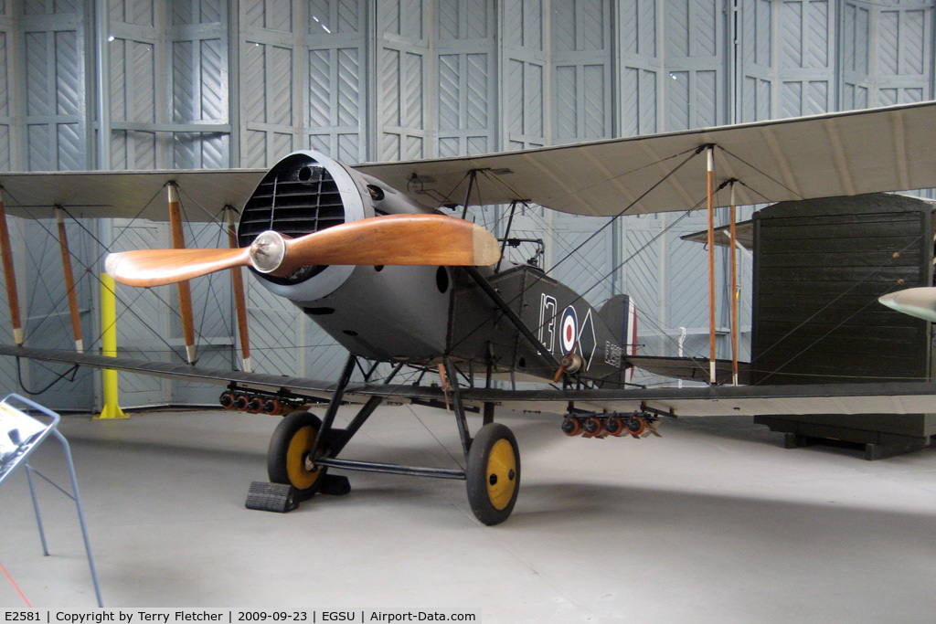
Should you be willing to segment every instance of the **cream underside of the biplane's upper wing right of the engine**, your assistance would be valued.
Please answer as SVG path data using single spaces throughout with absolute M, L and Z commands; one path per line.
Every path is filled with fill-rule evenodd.
M 614 216 L 689 210 L 706 196 L 695 158 L 714 144 L 716 184 L 737 179 L 738 204 L 936 187 L 936 103 L 856 110 L 483 156 L 358 165 L 429 206 L 515 199 L 552 210 Z M 727 193 L 716 198 L 729 202 Z

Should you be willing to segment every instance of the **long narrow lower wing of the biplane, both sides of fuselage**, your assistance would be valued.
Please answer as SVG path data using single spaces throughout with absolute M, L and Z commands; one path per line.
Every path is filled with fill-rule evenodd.
M 0 355 L 26 357 L 47 362 L 79 364 L 97 369 L 118 369 L 173 379 L 204 383 L 236 383 L 277 391 L 281 388 L 302 396 L 326 399 L 334 389 L 329 382 L 245 373 L 236 370 L 206 370 L 184 364 L 147 362 L 81 355 L 51 349 L 31 349 L 0 344 Z M 576 407 L 601 411 L 634 411 L 641 404 L 672 411 L 677 416 L 781 415 L 781 414 L 927 414 L 931 412 L 933 382 L 896 382 L 885 384 L 826 385 L 739 385 L 697 386 L 684 388 L 648 388 L 615 390 L 500 390 L 465 389 L 462 399 L 472 405 L 493 402 L 508 409 L 562 414 L 569 401 Z M 369 397 L 404 401 L 436 401 L 444 404 L 442 389 L 431 386 L 351 384 L 344 399 L 361 402 Z

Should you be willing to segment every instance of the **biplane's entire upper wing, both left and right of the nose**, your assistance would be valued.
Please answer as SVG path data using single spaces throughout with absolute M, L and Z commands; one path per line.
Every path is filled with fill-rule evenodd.
M 461 204 L 469 173 L 476 170 L 470 203 L 519 199 L 574 214 L 614 216 L 625 209 L 639 214 L 693 208 L 705 197 L 706 166 L 704 157 L 692 154 L 708 144 L 716 146 L 716 184 L 740 182 L 739 205 L 936 187 L 934 102 L 354 168 L 432 208 Z M 75 216 L 165 221 L 165 202 L 154 198 L 168 181 L 176 181 L 186 218 L 211 221 L 226 204 L 241 208 L 264 174 L 262 169 L 0 173 L 0 186 L 7 211 L 17 216 L 51 217 L 57 204 Z M 726 192 L 716 196 L 718 206 L 727 202 Z

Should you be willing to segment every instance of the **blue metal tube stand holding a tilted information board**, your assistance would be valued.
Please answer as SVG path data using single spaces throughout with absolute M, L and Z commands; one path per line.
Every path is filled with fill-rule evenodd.
M 16 404 L 25 406 L 34 414 L 26 414 Z M 35 413 L 38 414 L 35 414 Z M 38 417 L 37 417 L 38 416 Z M 46 416 L 49 420 L 42 418 Z M 17 394 L 8 394 L 3 400 L 0 400 L 0 423 L 10 422 L 16 425 L 21 424 L 27 429 L 28 437 L 23 438 L 20 428 L 9 430 L 0 430 L 0 436 L 7 435 L 10 441 L 16 444 L 15 450 L 8 453 L 5 457 L 0 457 L 0 486 L 7 480 L 10 474 L 16 472 L 21 465 L 26 469 L 26 480 L 29 482 L 29 493 L 33 497 L 33 510 L 36 512 L 36 523 L 39 528 L 39 540 L 42 542 L 42 552 L 49 556 L 49 547 L 46 544 L 46 534 L 42 529 L 42 516 L 39 515 L 39 503 L 36 498 L 36 487 L 33 484 L 33 473 L 47 481 L 55 489 L 65 494 L 69 499 L 75 501 L 78 508 L 78 521 L 81 525 L 81 536 L 84 538 L 84 549 L 88 554 L 88 565 L 91 568 L 91 580 L 95 584 L 95 596 L 97 597 L 97 606 L 103 607 L 101 601 L 101 589 L 97 584 L 97 572 L 95 571 L 95 559 L 91 555 L 91 543 L 88 541 L 88 529 L 84 524 L 84 510 L 81 508 L 81 499 L 78 494 L 78 479 L 75 477 L 75 464 L 71 459 L 71 447 L 68 445 L 65 436 L 58 431 L 59 414 L 39 405 L 38 403 L 25 399 Z M 71 493 L 57 486 L 48 477 L 29 465 L 29 456 L 32 455 L 38 446 L 45 442 L 46 438 L 53 436 L 65 451 L 66 463 L 68 464 L 68 474 L 71 477 Z

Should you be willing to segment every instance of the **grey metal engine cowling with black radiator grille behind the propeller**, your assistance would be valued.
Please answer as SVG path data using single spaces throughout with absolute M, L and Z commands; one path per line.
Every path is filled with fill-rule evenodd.
M 298 238 L 378 214 L 432 211 L 324 154 L 293 152 L 271 167 L 245 204 L 238 243 L 248 246 L 266 230 Z M 445 351 L 450 268 L 301 267 L 286 277 L 253 272 L 354 354 L 425 361 Z

